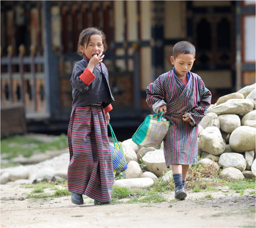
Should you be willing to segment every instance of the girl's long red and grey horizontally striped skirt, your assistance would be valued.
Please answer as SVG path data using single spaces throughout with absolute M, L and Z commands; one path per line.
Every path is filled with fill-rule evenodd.
M 73 107 L 68 128 L 68 189 L 102 202 L 111 201 L 114 184 L 106 123 L 101 105 Z

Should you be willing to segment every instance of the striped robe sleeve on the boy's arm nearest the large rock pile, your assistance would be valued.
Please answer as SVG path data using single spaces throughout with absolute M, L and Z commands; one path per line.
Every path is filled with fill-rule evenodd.
M 198 106 L 187 113 L 192 116 L 190 119 L 192 119 L 194 125 L 198 125 L 200 123 L 201 119 L 206 115 L 207 109 L 211 105 L 211 92 L 205 87 L 204 81 L 200 77 L 199 85 L 200 101 L 198 102 Z

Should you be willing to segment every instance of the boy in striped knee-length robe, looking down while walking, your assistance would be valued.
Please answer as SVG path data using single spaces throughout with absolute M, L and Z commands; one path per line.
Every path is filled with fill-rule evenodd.
M 175 183 L 175 198 L 186 198 L 185 183 L 189 165 L 197 164 L 198 124 L 211 105 L 211 92 L 197 74 L 190 72 L 195 47 L 180 41 L 170 57 L 173 70 L 161 74 L 147 87 L 146 102 L 155 113 L 164 111 L 171 122 L 164 138 L 166 167 L 170 165 Z

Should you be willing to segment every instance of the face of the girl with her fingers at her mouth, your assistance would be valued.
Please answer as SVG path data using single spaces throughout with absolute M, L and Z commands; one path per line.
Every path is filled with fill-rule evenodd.
M 89 59 L 91 59 L 94 55 L 99 55 L 104 51 L 101 35 L 91 35 L 87 47 L 85 43 L 83 46 L 80 45 L 79 48 L 80 51 L 83 52 Z

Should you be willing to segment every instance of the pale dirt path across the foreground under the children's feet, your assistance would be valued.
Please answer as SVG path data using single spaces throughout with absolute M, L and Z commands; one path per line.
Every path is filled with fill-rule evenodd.
M 94 206 L 70 196 L 26 198 L 31 188 L 1 185 L 1 227 L 255 227 L 255 195 L 220 189 L 188 193 L 173 204 L 137 203 Z M 48 190 L 50 192 L 50 190 Z M 207 199 L 205 195 L 213 198 Z M 173 200 L 173 193 L 164 194 Z

